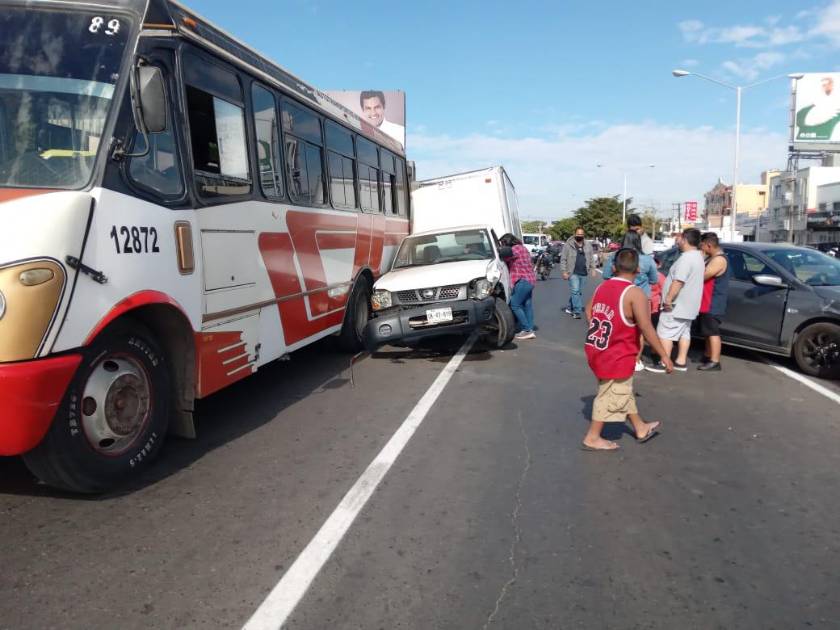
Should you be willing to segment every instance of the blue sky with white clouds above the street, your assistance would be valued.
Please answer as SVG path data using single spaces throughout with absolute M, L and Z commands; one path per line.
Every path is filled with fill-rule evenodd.
M 840 0 L 187 3 L 322 90 L 405 90 L 420 177 L 501 163 L 533 218 L 619 194 L 625 172 L 662 209 L 731 181 L 734 92 L 675 67 L 840 71 Z M 784 167 L 789 87 L 744 92 L 740 181 Z

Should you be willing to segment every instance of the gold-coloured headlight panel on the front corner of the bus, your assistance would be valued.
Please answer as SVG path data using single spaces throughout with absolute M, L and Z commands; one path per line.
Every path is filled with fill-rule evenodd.
M 0 362 L 35 358 L 64 282 L 64 268 L 51 260 L 0 267 Z

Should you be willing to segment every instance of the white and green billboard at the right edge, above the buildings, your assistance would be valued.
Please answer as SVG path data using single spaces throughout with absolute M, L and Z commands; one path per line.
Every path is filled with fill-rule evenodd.
M 795 149 L 840 151 L 840 72 L 796 81 L 793 109 Z

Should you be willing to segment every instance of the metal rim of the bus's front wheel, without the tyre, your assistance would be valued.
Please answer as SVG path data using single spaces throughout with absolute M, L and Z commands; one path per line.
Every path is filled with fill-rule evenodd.
M 124 355 L 100 359 L 85 383 L 80 405 L 91 447 L 108 456 L 129 449 L 149 423 L 151 394 L 151 380 L 139 361 Z

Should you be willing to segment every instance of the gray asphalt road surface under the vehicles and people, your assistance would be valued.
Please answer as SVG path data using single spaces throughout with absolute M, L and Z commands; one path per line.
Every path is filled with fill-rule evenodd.
M 567 295 L 541 282 L 537 340 L 467 355 L 287 627 L 840 626 L 837 403 L 727 351 L 641 374 L 661 435 L 584 452 Z M 203 401 L 199 438 L 118 494 L 0 458 L 0 628 L 240 627 L 459 345 L 385 349 L 351 384 L 316 344 Z

